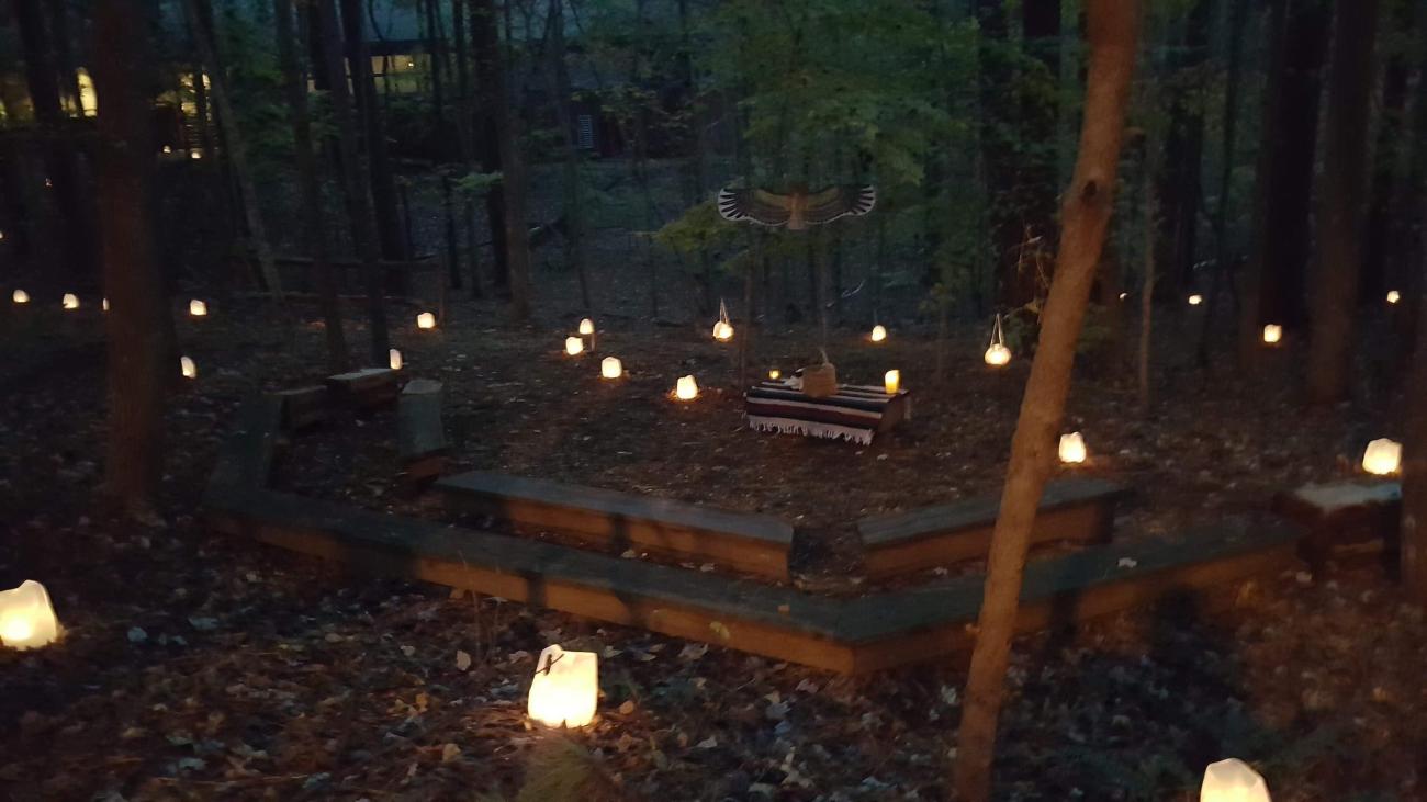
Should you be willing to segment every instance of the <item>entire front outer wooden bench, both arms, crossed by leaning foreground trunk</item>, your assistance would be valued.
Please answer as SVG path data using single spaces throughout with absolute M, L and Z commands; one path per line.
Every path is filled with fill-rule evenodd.
M 381 575 L 438 582 L 651 632 L 862 674 L 968 651 L 982 575 L 835 599 L 268 489 L 211 485 L 221 531 Z M 1301 529 L 1233 522 L 1173 542 L 1092 547 L 1026 569 L 1019 631 L 1077 624 L 1296 562 Z M 1233 598 L 1220 592 L 1217 598 Z

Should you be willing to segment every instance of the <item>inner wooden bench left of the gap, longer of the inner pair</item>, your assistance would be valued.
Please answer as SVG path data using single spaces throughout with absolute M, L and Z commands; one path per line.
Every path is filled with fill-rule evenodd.
M 761 577 L 788 577 L 793 528 L 771 515 L 488 471 L 447 477 L 435 488 L 455 509 L 491 515 L 528 531 L 574 535 L 612 554 L 639 548 L 721 562 Z

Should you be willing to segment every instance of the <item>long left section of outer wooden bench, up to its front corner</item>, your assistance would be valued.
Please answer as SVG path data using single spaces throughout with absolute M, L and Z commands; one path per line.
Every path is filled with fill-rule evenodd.
M 267 489 L 213 487 L 204 505 L 224 532 L 380 575 L 465 588 L 828 671 L 853 666 L 852 649 L 835 639 L 841 602 L 786 587 Z

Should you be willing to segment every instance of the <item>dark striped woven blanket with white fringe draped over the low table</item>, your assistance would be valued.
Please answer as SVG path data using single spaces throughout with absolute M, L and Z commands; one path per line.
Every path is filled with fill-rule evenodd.
M 762 381 L 743 394 L 749 428 L 848 440 L 870 445 L 872 437 L 912 417 L 908 391 L 888 395 L 880 387 L 839 384 L 838 394 L 811 398 L 796 380 Z

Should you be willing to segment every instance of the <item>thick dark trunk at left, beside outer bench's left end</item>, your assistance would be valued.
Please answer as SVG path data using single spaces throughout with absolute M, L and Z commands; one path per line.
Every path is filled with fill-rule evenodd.
M 104 495 L 130 515 L 151 512 L 163 475 L 166 390 L 177 374 L 173 317 L 154 254 L 150 203 L 147 70 L 134 36 L 137 0 L 94 4 L 94 83 L 98 96 L 98 204 L 108 335 L 108 452 Z

